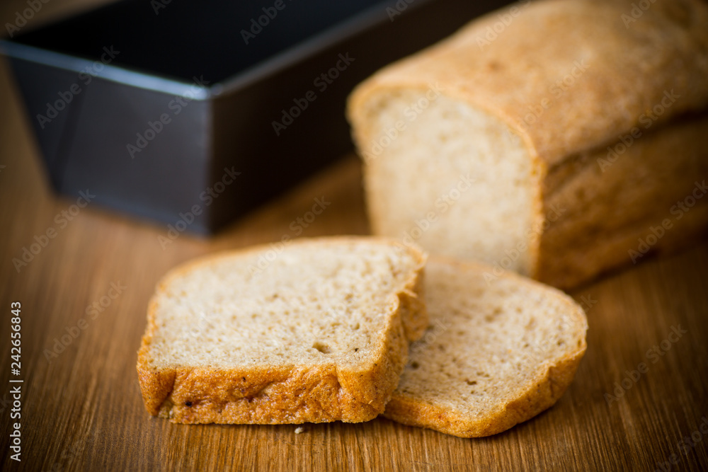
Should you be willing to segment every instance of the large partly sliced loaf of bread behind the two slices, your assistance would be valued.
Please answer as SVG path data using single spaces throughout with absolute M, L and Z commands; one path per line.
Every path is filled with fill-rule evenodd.
M 539 0 L 348 103 L 372 231 L 570 288 L 708 227 L 708 6 Z

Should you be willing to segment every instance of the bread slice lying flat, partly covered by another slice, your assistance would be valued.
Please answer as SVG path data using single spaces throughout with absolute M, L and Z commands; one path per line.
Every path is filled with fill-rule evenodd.
M 586 350 L 586 316 L 570 297 L 488 267 L 430 258 L 430 327 L 384 415 L 459 437 L 508 430 L 552 406 Z

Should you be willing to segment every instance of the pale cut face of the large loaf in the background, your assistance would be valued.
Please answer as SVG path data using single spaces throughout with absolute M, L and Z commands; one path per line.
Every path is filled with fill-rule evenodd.
M 435 86 L 376 84 L 350 100 L 373 231 L 532 274 L 539 171 L 523 140 Z

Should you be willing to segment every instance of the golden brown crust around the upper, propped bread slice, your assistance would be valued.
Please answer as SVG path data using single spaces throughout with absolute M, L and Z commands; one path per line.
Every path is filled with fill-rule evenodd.
M 297 244 L 336 244 L 345 241 L 379 241 L 400 246 L 387 238 L 341 236 L 299 240 Z M 293 241 L 293 244 L 296 242 Z M 210 264 L 224 255 L 263 251 L 257 246 L 241 251 L 209 255 L 169 272 L 157 286 L 168 287 L 173 277 Z M 355 366 L 321 364 L 260 368 L 217 369 L 206 367 L 156 368 L 149 345 L 156 330 L 156 296 L 148 307 L 148 326 L 138 352 L 137 371 L 145 407 L 152 415 L 180 423 L 280 424 L 302 422 L 362 422 L 384 410 L 398 384 L 408 352 L 402 316 L 411 326 L 427 323 L 427 311 L 418 298 L 418 278 L 423 277 L 426 255 L 410 248 L 417 267 L 404 290 L 396 294 L 387 330 L 379 333 L 382 346 L 369 362 Z M 417 329 L 416 329 L 417 330 Z M 416 330 L 413 330 L 415 332 Z

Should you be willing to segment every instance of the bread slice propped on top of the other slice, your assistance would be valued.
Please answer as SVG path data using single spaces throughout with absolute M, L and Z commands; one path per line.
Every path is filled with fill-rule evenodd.
M 375 418 L 427 326 L 425 259 L 384 238 L 338 237 L 172 270 L 138 352 L 145 407 L 178 423 Z

